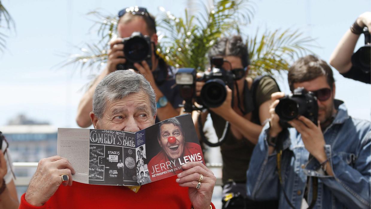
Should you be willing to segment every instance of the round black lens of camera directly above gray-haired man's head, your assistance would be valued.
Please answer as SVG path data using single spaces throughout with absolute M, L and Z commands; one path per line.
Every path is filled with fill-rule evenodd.
M 150 46 L 142 37 L 132 37 L 124 46 L 125 58 L 131 62 L 141 62 L 147 58 Z

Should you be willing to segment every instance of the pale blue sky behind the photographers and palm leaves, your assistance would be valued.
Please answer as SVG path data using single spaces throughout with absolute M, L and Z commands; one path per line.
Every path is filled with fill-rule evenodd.
M 173 14 L 183 15 L 187 1 L 72 1 L 72 0 L 3 0 L 16 23 L 16 33 L 10 33 L 7 50 L 0 56 L 0 125 L 23 113 L 39 121 L 49 121 L 56 127 L 77 127 L 75 116 L 82 87 L 92 71 L 80 71 L 73 66 L 59 68 L 65 60 L 62 53 L 78 52 L 74 46 L 94 42 L 92 25 L 85 14 L 102 8 L 116 14 L 128 6 L 144 6 L 154 14 L 163 6 Z M 320 48 L 312 49 L 325 61 L 357 16 L 370 10 L 369 0 L 259 0 L 256 13 L 244 33 L 259 30 L 301 29 L 316 39 Z M 356 49 L 363 42 L 359 39 Z M 350 115 L 370 120 L 370 85 L 343 78 L 334 69 L 336 98 L 347 104 Z M 279 78 L 283 91 L 288 92 L 285 78 Z

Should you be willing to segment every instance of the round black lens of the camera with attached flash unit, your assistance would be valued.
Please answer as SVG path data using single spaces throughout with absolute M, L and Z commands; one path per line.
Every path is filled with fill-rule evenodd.
M 224 82 L 221 79 L 211 79 L 205 83 L 200 95 L 206 107 L 219 107 L 227 97 Z

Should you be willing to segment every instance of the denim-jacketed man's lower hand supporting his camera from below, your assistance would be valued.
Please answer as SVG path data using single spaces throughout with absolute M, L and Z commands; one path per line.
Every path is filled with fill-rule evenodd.
M 309 153 L 311 153 L 319 162 L 325 161 L 325 138 L 319 121 L 318 125 L 315 125 L 308 118 L 300 116 L 298 119 L 294 119 L 288 123 L 301 133 L 304 146 Z

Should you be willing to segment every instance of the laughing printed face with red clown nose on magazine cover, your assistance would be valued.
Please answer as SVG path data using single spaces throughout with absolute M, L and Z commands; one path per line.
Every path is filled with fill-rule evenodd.
M 158 143 L 170 159 L 177 159 L 183 154 L 184 136 L 180 130 L 180 127 L 172 123 L 161 125 L 161 136 Z M 175 137 L 174 144 L 168 142 L 169 137 Z

